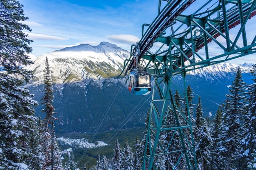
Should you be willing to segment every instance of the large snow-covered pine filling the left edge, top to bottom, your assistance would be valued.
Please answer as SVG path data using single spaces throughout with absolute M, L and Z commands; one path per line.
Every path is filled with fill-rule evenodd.
M 28 18 L 16 0 L 0 1 L 0 16 L 0 169 L 38 166 L 31 162 L 39 157 L 37 141 L 32 140 L 37 135 L 37 102 L 22 87 L 32 78 L 31 71 L 22 69 L 33 63 L 27 55 L 32 40 L 23 32 L 31 30 L 21 22 Z

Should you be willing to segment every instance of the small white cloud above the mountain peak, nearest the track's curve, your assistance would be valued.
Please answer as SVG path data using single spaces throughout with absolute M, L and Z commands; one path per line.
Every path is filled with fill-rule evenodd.
M 120 35 L 110 35 L 107 36 L 107 39 L 111 40 L 114 43 L 121 44 L 136 44 L 137 41 L 140 40 L 137 36 L 129 35 L 129 34 L 120 34 Z

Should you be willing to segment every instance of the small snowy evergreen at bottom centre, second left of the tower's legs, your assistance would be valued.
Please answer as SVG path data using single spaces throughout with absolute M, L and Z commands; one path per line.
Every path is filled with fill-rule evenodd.
M 130 148 L 127 138 L 124 141 L 122 158 L 121 158 L 121 168 L 122 170 L 134 170 L 133 167 L 134 157 L 132 148 Z

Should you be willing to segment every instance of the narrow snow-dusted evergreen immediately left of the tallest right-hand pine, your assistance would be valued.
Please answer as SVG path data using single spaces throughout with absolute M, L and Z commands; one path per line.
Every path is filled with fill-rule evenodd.
M 217 114 L 216 117 L 213 121 L 213 127 L 212 127 L 212 139 L 213 139 L 213 147 L 211 149 L 211 155 L 212 155 L 212 160 L 210 163 L 210 170 L 215 170 L 218 169 L 218 150 L 217 150 L 217 143 L 219 143 L 219 135 L 220 135 L 220 130 L 219 128 L 222 125 L 222 111 L 221 110 L 217 110 Z

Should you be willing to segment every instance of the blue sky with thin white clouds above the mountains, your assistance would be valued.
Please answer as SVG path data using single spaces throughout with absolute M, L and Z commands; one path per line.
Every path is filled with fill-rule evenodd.
M 158 15 L 158 1 L 19 0 L 25 16 L 30 18 L 25 23 L 32 29 L 28 34 L 34 41 L 31 47 L 35 56 L 80 44 L 98 45 L 102 41 L 130 51 L 130 46 L 141 38 L 142 24 L 151 24 Z M 201 6 L 205 1 L 197 2 Z M 256 26 L 256 17 L 251 22 Z M 256 63 L 255 55 L 230 61 L 245 62 Z

